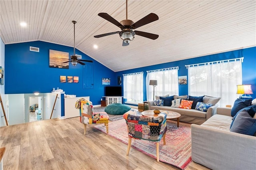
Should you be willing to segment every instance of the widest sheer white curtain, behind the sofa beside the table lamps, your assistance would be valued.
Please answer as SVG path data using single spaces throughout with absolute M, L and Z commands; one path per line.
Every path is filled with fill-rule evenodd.
M 237 99 L 236 85 L 242 84 L 242 59 L 232 59 L 186 65 L 188 67 L 188 94 L 221 97 L 219 105 L 232 105 Z

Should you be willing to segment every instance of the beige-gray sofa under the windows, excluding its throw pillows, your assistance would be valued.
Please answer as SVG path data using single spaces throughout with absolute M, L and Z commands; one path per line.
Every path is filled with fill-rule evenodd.
M 188 98 L 187 96 L 180 96 L 180 97 Z M 174 95 L 174 99 L 177 99 L 177 98 L 179 98 L 179 96 Z M 210 99 L 217 99 L 217 98 L 208 97 L 208 101 L 210 101 Z M 220 98 L 218 98 L 218 100 L 219 99 Z M 206 101 L 204 101 L 204 102 L 206 102 Z M 182 108 L 176 108 L 176 107 L 171 107 L 171 106 L 158 106 L 158 105 L 154 105 L 154 101 L 148 101 L 148 109 L 149 110 L 160 109 L 160 110 L 166 110 L 166 111 L 174 111 L 174 112 L 180 113 L 180 115 L 181 115 L 181 117 L 179 118 L 180 121 L 201 125 L 206 120 L 208 120 L 210 117 L 212 117 L 212 115 L 216 114 L 216 109 L 218 107 L 218 105 L 216 104 L 217 102 L 214 102 L 213 103 L 214 105 L 212 107 L 208 108 L 208 110 L 206 112 L 198 111 L 195 109 L 182 109 Z

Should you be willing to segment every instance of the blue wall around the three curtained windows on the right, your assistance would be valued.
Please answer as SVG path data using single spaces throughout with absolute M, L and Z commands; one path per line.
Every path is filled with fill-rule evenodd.
M 161 56 L 158 56 L 158 57 L 161 57 Z M 148 67 L 130 69 L 126 71 L 119 71 L 119 72 L 116 72 L 116 77 L 117 76 L 122 77 L 123 74 L 136 73 L 136 72 L 143 71 L 144 72 L 143 98 L 145 101 L 146 100 L 146 75 L 147 75 L 146 71 L 178 66 L 179 67 L 178 76 L 183 76 L 183 75 L 188 76 L 188 69 L 185 67 L 185 65 L 205 63 L 205 62 L 218 61 L 218 60 L 226 60 L 226 59 L 234 59 L 234 58 L 240 58 L 240 57 L 244 57 L 244 62 L 242 63 L 242 83 L 252 85 L 252 91 L 254 94 L 252 94 L 251 96 L 253 99 L 255 99 L 256 98 L 256 47 L 250 47 L 246 49 L 240 49 L 240 50 L 218 53 L 213 55 L 206 55 L 203 57 L 196 57 L 192 59 L 184 59 L 180 61 L 152 65 Z M 154 61 L 152 61 L 152 63 L 154 63 Z M 188 85 L 179 85 L 179 95 L 188 95 Z

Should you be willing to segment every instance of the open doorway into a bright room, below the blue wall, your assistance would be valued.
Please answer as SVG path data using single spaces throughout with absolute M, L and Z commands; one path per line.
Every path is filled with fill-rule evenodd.
M 29 112 L 29 122 L 44 120 L 43 117 L 43 96 L 29 97 L 28 98 L 28 112 Z

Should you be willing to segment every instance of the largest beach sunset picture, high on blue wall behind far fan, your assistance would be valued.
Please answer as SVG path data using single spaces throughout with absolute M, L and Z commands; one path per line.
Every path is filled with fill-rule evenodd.
M 68 61 L 68 57 L 69 57 L 68 52 L 56 51 L 56 50 L 50 49 L 49 50 L 49 66 L 53 68 L 68 69 L 69 62 L 63 63 L 65 61 Z

